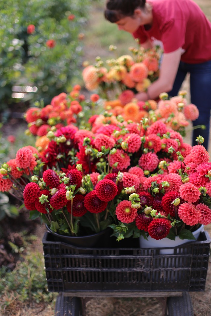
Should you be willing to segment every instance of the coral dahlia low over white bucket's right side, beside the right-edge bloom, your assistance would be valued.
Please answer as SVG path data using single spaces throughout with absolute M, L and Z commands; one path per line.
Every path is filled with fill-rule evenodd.
M 187 225 L 194 226 L 201 220 L 201 212 L 192 203 L 183 203 L 178 208 L 179 218 Z

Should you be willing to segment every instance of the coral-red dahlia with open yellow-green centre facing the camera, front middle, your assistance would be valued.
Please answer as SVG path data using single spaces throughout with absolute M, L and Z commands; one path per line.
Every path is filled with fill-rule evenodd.
M 132 223 L 137 216 L 137 210 L 133 209 L 130 201 L 123 200 L 116 207 L 116 217 L 122 223 Z

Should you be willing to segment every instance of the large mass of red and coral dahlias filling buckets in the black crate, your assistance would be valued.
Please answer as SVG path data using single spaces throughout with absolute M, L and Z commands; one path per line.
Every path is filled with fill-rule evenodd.
M 86 129 L 68 123 L 44 135 L 42 150 L 23 147 L 0 169 L 0 191 L 19 197 L 31 218 L 67 236 L 109 226 L 117 240 L 194 240 L 211 222 L 202 137 L 192 147 L 162 119 L 134 123 L 108 111 L 90 116 Z

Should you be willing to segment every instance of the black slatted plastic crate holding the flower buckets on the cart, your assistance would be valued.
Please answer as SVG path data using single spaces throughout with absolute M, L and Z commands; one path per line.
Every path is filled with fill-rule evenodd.
M 45 233 L 43 249 L 51 292 L 203 291 L 208 270 L 210 236 L 166 248 L 78 248 Z M 120 244 L 120 243 L 119 243 Z M 118 245 L 119 245 L 118 244 Z

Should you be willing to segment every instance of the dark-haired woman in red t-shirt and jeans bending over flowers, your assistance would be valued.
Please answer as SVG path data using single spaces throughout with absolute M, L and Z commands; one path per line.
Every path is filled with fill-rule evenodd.
M 200 134 L 208 148 L 211 108 L 211 23 L 192 0 L 108 0 L 105 18 L 120 30 L 133 34 L 145 49 L 154 40 L 163 43 L 160 76 L 137 99 L 158 98 L 161 92 L 177 95 L 186 74 L 190 73 L 191 102 L 200 116 L 194 126 L 206 129 L 193 131 L 193 145 Z

